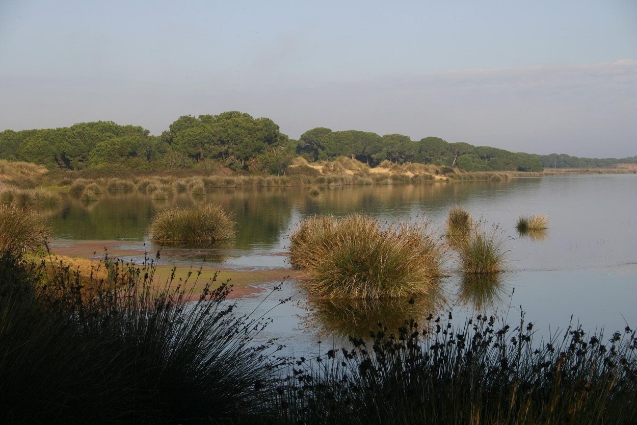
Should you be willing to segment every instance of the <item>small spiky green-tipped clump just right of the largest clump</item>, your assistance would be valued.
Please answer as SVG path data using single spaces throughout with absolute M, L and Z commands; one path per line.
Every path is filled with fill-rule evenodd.
M 476 221 L 466 238 L 455 246 L 460 257 L 461 271 L 468 274 L 498 273 L 506 271 L 508 238 L 499 228 L 487 228 L 484 221 Z

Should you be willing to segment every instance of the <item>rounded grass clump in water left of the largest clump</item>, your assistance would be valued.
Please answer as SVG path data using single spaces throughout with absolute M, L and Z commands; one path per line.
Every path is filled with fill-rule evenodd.
M 221 205 L 202 204 L 161 211 L 148 232 L 154 242 L 205 247 L 234 236 L 234 221 Z

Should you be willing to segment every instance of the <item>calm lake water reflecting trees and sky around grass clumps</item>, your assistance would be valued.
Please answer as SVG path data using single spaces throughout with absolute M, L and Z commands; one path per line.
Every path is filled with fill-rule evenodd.
M 164 248 L 164 264 L 198 265 L 205 257 L 208 263 L 237 269 L 287 267 L 281 254 L 286 251 L 290 229 L 313 214 L 361 212 L 389 221 L 425 215 L 435 229 L 442 226 L 453 205 L 461 205 L 474 218 L 499 223 L 511 237 L 510 265 L 515 272 L 499 281 L 478 283 L 462 282 L 452 272 L 436 297 L 419 300 L 413 306 L 406 301 L 308 301 L 302 294 L 295 295 L 298 290 L 294 281 L 286 282 L 273 298 L 295 295 L 294 301 L 269 314 L 275 318 L 269 332 L 270 336 L 280 334 L 292 345 L 313 344 L 318 330 L 323 335 L 336 335 L 330 338 L 339 343 L 338 335 L 355 329 L 364 332 L 379 319 L 391 324 L 403 315 L 426 315 L 430 311 L 441 315 L 452 311 L 461 318 L 456 322 L 463 322 L 476 311 L 498 312 L 508 314 L 515 322 L 520 306 L 541 334 L 564 329 L 571 315 L 574 322 L 579 321 L 590 331 L 606 327 L 611 332 L 623 329 L 626 322 L 637 327 L 635 174 L 561 175 L 502 183 L 333 187 L 322 189 L 318 197 L 310 196 L 307 188 L 224 190 L 209 193 L 206 198 L 179 195 L 162 202 L 138 195 L 103 195 L 89 206 L 68 198 L 61 209 L 49 213 L 49 221 L 58 244 L 121 241 L 122 248 L 155 251 L 159 246 L 149 242 L 146 233 L 153 214 L 166 207 L 204 200 L 222 204 L 234 214 L 238 234 L 233 245 L 224 250 Z M 517 218 L 533 213 L 550 219 L 547 235 L 538 240 L 520 238 L 515 231 Z M 453 270 L 454 264 L 450 262 L 448 267 Z M 273 283 L 263 285 L 271 287 Z M 250 309 L 259 301 L 241 300 Z M 269 306 L 266 302 L 263 308 Z

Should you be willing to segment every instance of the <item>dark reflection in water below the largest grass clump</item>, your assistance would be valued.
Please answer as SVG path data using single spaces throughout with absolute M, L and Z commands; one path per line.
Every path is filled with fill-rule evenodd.
M 395 330 L 405 320 L 436 315 L 446 305 L 442 289 L 419 299 L 308 299 L 304 327 L 335 336 L 368 336 L 379 324 Z

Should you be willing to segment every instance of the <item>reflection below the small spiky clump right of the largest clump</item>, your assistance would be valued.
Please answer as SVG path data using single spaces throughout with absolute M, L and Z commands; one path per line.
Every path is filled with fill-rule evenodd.
M 507 273 L 462 274 L 457 299 L 461 304 L 471 304 L 478 312 L 494 310 L 508 291 Z

